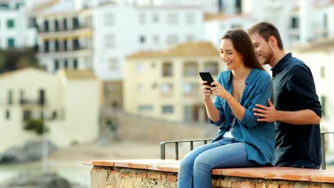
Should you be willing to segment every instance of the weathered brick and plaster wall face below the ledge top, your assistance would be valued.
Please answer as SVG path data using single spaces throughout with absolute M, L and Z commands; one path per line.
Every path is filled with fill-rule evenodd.
M 213 176 L 214 188 L 330 188 L 333 183 Z M 93 167 L 91 188 L 176 187 L 176 172 L 122 167 Z

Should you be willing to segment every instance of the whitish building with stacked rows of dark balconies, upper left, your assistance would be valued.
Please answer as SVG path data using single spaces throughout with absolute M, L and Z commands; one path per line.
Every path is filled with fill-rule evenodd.
M 90 4 L 74 0 L 50 1 L 34 7 L 31 16 L 39 27 L 37 57 L 47 71 L 93 68 L 92 14 Z

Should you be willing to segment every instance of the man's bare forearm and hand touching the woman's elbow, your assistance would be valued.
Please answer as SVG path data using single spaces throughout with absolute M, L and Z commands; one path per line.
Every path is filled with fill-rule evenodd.
M 293 125 L 318 125 L 320 123 L 320 117 L 312 110 L 276 110 L 270 99 L 268 99 L 268 105 L 255 105 L 257 108 L 254 108 L 253 111 L 255 116 L 260 117 L 258 118 L 259 122 L 280 121 Z

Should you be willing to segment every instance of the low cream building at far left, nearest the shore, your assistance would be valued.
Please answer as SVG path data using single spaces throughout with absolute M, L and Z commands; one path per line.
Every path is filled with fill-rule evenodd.
M 41 139 L 24 130 L 31 119 L 44 119 L 46 138 L 59 147 L 96 139 L 101 83 L 92 71 L 25 68 L 0 75 L 0 85 L 0 151 Z

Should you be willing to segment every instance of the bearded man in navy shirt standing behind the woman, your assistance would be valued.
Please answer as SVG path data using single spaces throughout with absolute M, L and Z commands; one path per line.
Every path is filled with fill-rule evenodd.
M 275 166 L 319 169 L 321 105 L 310 68 L 285 53 L 278 29 L 267 22 L 248 30 L 255 53 L 273 71 L 273 103 L 256 104 L 258 121 L 275 121 Z

